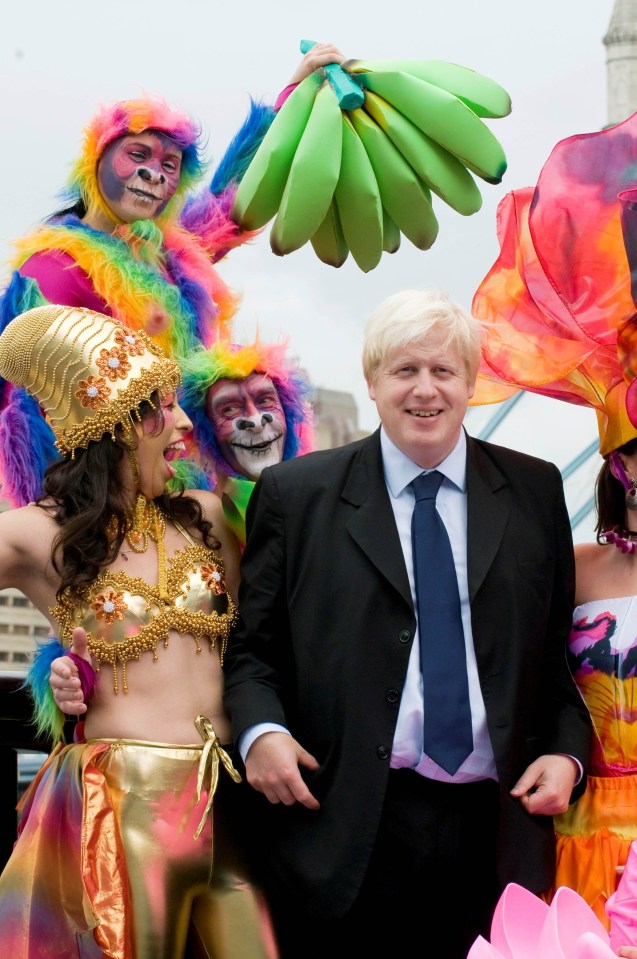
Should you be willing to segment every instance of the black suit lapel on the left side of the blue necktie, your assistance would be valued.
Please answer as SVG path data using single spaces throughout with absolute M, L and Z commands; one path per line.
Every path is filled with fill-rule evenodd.
M 380 431 L 361 444 L 341 495 L 356 507 L 347 522 L 352 539 L 413 609 L 405 557 L 385 485 Z

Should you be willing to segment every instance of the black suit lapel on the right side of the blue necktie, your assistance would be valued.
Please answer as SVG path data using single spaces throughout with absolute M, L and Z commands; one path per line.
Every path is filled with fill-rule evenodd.
M 509 519 L 498 490 L 507 485 L 476 440 L 467 436 L 467 565 L 469 602 L 478 592 L 500 549 Z

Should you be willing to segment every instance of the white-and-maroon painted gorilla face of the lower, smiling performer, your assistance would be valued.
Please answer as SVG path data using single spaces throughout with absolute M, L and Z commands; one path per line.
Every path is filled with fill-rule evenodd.
M 224 459 L 248 479 L 279 463 L 285 446 L 285 414 L 269 376 L 217 380 L 206 397 L 206 411 Z

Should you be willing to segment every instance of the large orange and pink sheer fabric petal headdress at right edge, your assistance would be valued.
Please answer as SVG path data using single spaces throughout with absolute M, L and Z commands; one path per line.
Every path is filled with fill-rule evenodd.
M 625 244 L 630 197 L 620 198 L 634 184 L 636 153 L 637 114 L 560 141 L 537 186 L 501 201 L 500 255 L 473 300 L 487 326 L 472 403 L 524 389 L 591 406 L 602 454 L 637 435 L 626 412 L 637 243 Z

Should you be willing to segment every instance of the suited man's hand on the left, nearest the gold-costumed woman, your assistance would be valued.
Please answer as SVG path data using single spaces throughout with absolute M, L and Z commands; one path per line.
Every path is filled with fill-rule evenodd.
M 314 756 L 287 733 L 263 733 L 250 746 L 246 756 L 246 778 L 271 803 L 292 806 L 302 803 L 307 809 L 319 809 L 301 778 L 299 766 L 318 769 Z

